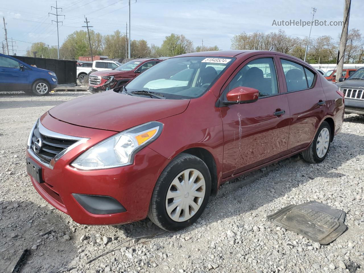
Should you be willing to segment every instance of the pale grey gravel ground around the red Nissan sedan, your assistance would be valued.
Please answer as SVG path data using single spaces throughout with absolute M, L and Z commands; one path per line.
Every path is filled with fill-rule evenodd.
M 11 272 L 26 248 L 31 254 L 21 272 L 29 273 L 364 272 L 364 116 L 345 116 L 323 163 L 310 165 L 297 156 L 237 178 L 221 187 L 193 226 L 138 241 L 130 239 L 162 230 L 149 219 L 79 225 L 45 202 L 26 174 L 25 143 L 35 120 L 84 95 L 0 93 L 1 273 Z M 347 212 L 348 230 L 329 245 L 266 220 L 288 204 L 310 200 Z

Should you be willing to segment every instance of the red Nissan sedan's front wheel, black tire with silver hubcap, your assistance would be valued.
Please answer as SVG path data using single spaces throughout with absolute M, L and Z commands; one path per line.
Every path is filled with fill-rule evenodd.
M 185 174 L 189 180 L 194 177 L 194 183 L 185 184 Z M 177 181 L 180 183 L 176 187 Z M 191 187 L 184 191 L 183 187 L 186 185 Z M 161 229 L 167 231 L 184 229 L 201 216 L 209 201 L 210 193 L 211 176 L 205 162 L 194 155 L 179 154 L 158 178 L 150 201 L 148 217 Z M 181 195 L 167 199 L 167 194 Z M 179 205 L 175 206 L 175 204 Z M 167 206 L 175 207 L 175 209 L 167 211 Z M 188 213 L 185 213 L 183 208 L 187 206 Z M 174 219 L 172 219 L 173 215 Z

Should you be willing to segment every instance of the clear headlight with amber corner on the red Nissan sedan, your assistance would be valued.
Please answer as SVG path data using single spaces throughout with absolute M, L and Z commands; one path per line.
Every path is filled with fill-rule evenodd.
M 81 170 L 130 165 L 134 155 L 161 135 L 163 123 L 148 122 L 113 135 L 80 155 L 71 166 Z

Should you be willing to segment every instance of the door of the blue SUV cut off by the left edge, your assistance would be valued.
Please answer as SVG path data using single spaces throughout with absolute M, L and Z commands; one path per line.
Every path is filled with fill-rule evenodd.
M 20 69 L 19 62 L 0 56 L 0 90 L 23 91 L 29 88 L 29 73 L 27 68 Z

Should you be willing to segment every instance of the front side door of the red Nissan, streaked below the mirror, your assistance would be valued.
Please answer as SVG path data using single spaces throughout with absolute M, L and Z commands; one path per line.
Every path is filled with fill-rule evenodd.
M 282 82 L 277 77 L 276 57 L 259 56 L 242 63 L 223 87 L 223 97 L 239 86 L 252 87 L 260 93 L 256 102 L 220 108 L 224 178 L 287 153 L 290 113 L 286 94 L 279 88 Z

